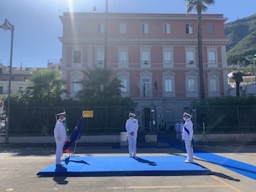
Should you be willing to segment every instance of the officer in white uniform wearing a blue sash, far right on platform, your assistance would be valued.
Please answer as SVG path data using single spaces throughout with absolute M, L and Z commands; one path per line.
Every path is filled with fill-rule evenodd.
M 182 139 L 185 142 L 185 148 L 187 152 L 186 163 L 193 163 L 193 146 L 191 144 L 192 139 L 194 139 L 193 123 L 191 121 L 191 115 L 189 113 L 183 113 L 183 120 L 185 121 L 183 125 Z

